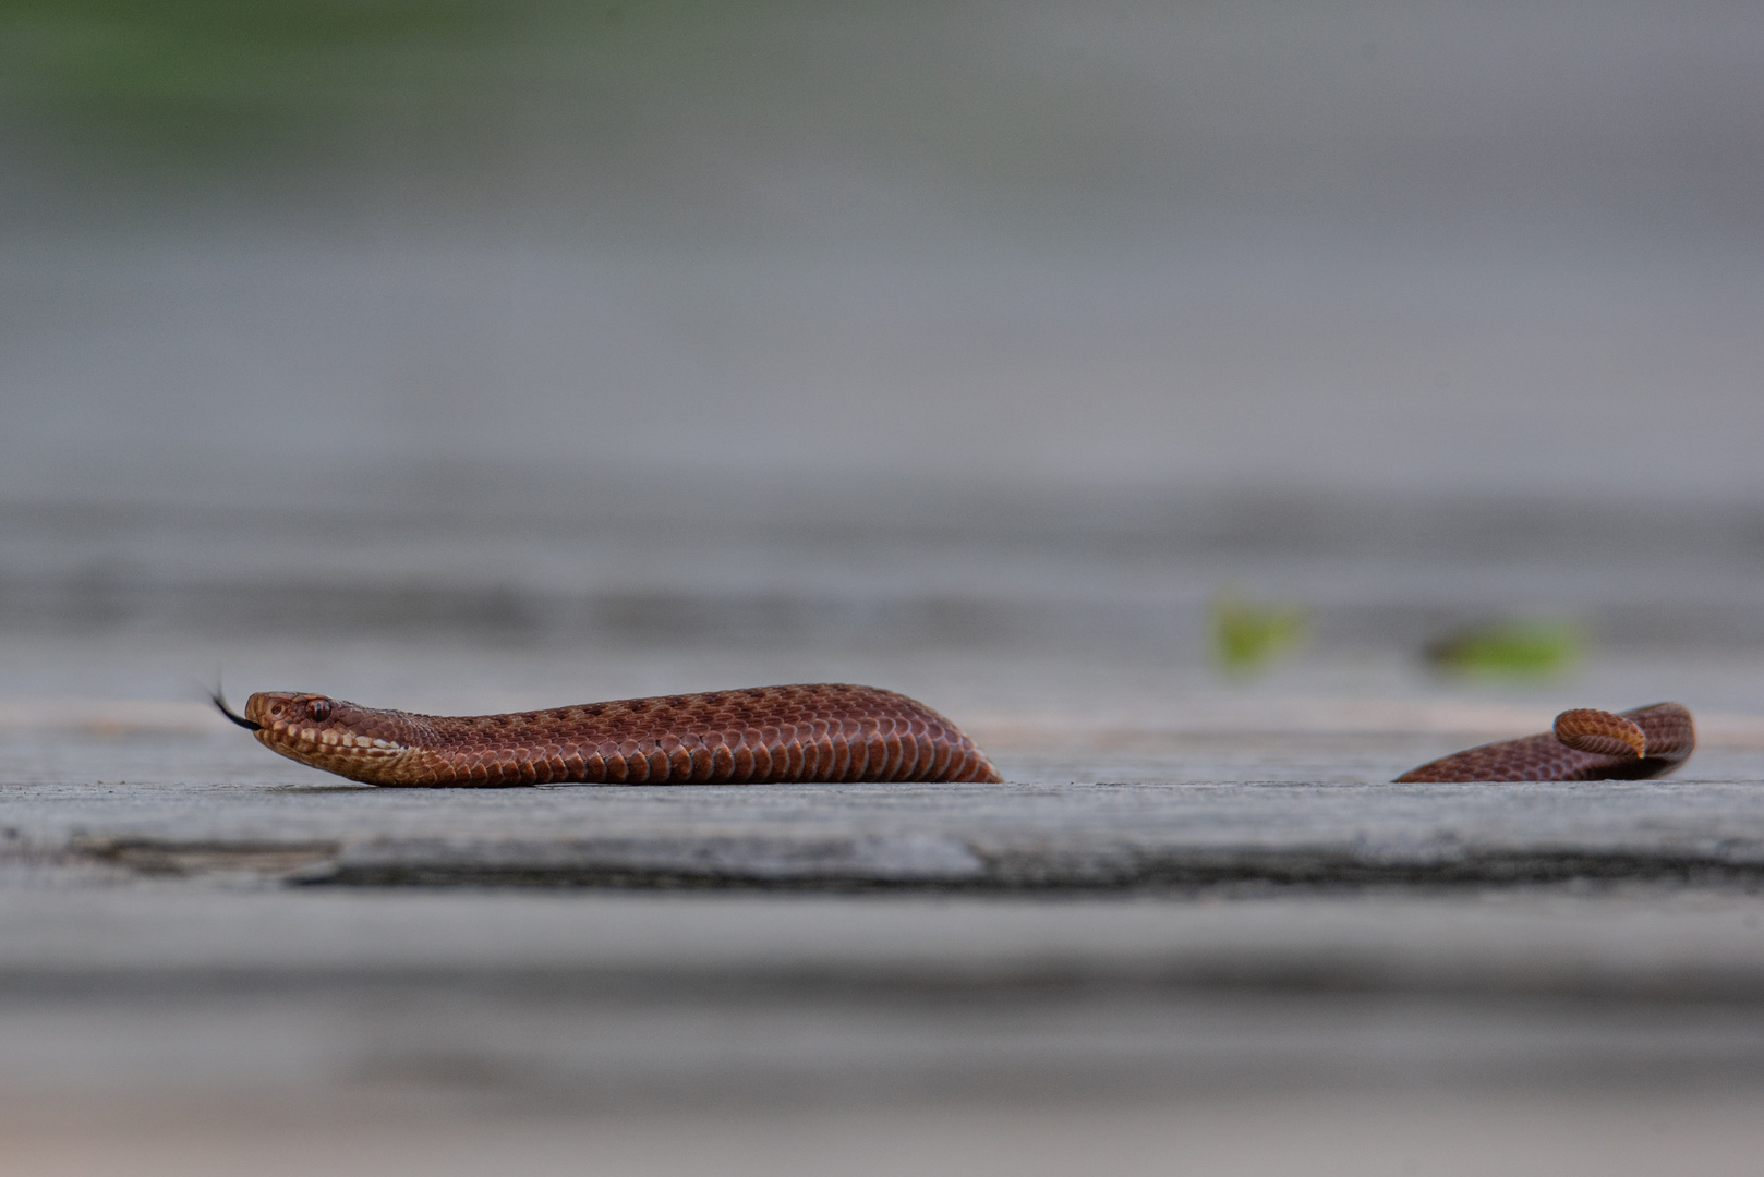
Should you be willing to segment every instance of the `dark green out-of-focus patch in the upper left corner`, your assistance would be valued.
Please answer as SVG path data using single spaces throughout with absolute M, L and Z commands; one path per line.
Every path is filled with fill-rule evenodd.
M 113 152 L 286 146 L 467 111 L 538 0 L 0 0 L 0 92 Z

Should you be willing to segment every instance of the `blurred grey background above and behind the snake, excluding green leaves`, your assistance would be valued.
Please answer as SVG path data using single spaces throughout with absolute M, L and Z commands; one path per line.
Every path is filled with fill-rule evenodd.
M 1418 663 L 1545 616 L 1589 702 L 1757 706 L 1755 5 L 9 0 L 0 53 L 11 693 L 1556 699 Z M 1221 591 L 1307 653 L 1219 681 Z

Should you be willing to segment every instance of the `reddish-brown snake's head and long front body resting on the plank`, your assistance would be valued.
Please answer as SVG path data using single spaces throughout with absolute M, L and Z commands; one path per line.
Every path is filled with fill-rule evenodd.
M 273 752 L 370 785 L 997 782 L 907 695 L 806 683 L 439 716 L 259 692 L 222 713 Z

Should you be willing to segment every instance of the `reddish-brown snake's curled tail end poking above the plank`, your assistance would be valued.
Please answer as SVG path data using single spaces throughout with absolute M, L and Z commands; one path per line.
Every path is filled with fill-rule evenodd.
M 1697 725 L 1676 702 L 1614 715 L 1577 708 L 1554 731 L 1454 752 L 1397 776 L 1395 783 L 1471 780 L 1648 780 L 1697 748 Z

